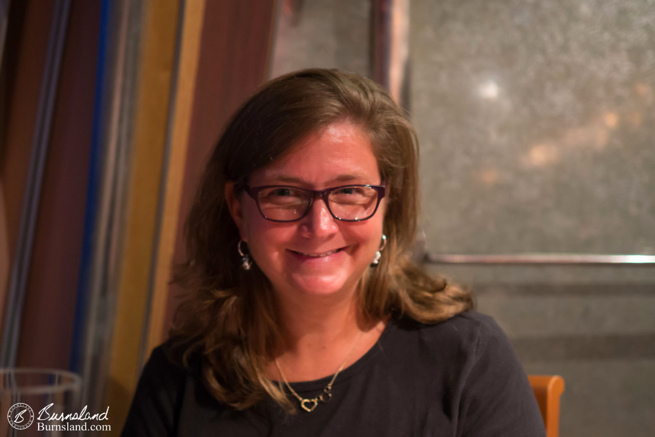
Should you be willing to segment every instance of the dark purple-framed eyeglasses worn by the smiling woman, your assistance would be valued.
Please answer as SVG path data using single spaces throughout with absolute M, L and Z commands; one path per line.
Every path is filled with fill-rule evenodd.
M 309 214 L 316 197 L 322 197 L 333 218 L 362 221 L 373 217 L 384 197 L 384 185 L 341 185 L 312 190 L 290 185 L 244 187 L 257 203 L 261 216 L 271 221 L 298 221 Z

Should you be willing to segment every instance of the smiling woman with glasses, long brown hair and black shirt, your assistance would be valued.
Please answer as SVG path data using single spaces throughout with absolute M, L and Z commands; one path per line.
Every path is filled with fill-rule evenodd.
M 242 105 L 123 435 L 544 435 L 502 331 L 411 261 L 417 161 L 401 109 L 359 75 L 297 71 Z

